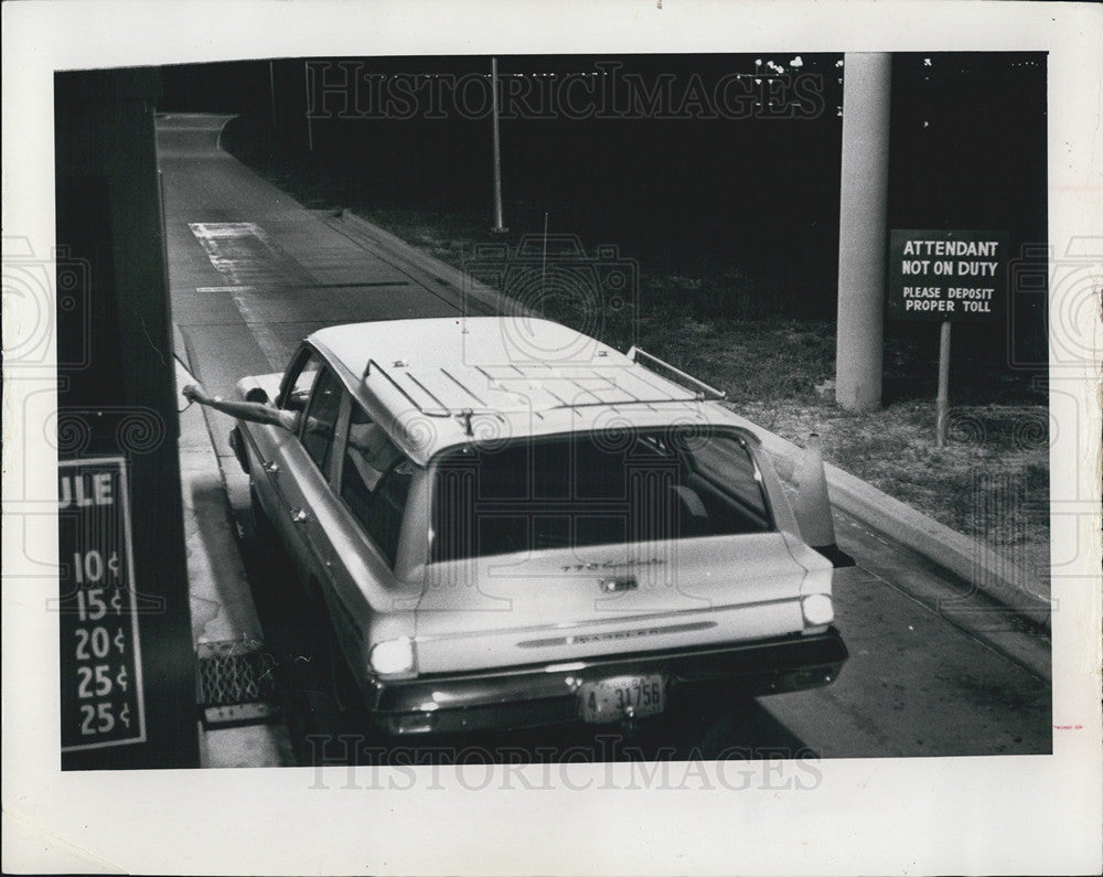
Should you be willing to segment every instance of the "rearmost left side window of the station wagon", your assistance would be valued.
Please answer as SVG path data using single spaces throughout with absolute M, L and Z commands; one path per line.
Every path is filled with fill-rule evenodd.
M 367 413 L 353 405 L 341 466 L 341 499 L 394 566 L 414 464 Z

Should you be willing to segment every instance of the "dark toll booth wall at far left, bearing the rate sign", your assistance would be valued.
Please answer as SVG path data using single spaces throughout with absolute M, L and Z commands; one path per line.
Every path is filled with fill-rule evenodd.
M 73 491 L 78 479 L 110 486 L 109 502 L 58 514 L 62 770 L 200 763 L 153 128 L 160 95 L 156 68 L 54 79 L 65 254 L 55 313 L 58 496 L 65 478 Z M 77 575 L 79 557 L 90 566 Z M 82 609 L 82 600 L 95 606 L 94 592 L 110 607 L 98 616 Z M 109 638 L 106 654 L 82 645 L 82 634 L 92 642 L 97 631 Z M 82 687 L 101 667 L 109 681 Z

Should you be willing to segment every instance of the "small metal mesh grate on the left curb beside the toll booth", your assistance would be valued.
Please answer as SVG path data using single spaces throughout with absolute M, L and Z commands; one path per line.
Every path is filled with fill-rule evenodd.
M 276 659 L 256 640 L 202 642 L 196 646 L 196 702 L 207 726 L 265 721 L 274 703 Z

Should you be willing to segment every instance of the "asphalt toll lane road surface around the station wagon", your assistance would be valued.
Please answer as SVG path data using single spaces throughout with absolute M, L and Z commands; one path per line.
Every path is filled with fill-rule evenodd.
M 336 216 L 303 208 L 222 152 L 224 121 L 167 116 L 158 135 L 172 314 L 211 392 L 228 393 L 243 375 L 282 372 L 298 342 L 325 325 L 460 312 L 462 298 L 431 267 Z M 231 504 L 244 516 L 245 477 L 222 439 L 232 423 L 216 414 L 211 423 Z M 442 760 L 458 746 L 476 760 L 517 752 L 536 760 L 1050 752 L 1045 635 L 838 513 L 836 528 L 858 566 L 842 573 L 835 588 L 836 623 L 850 650 L 835 684 L 758 700 L 718 693 L 672 704 L 635 728 L 480 735 L 426 741 L 421 751 Z M 251 556 L 246 542 L 250 587 L 267 645 L 281 662 L 300 759 L 319 756 L 325 736 L 328 760 L 393 757 L 394 748 L 370 735 L 357 739 L 362 717 L 332 696 L 334 674 L 324 670 L 323 646 L 301 629 L 286 564 Z M 338 734 L 353 735 L 352 742 L 333 742 Z

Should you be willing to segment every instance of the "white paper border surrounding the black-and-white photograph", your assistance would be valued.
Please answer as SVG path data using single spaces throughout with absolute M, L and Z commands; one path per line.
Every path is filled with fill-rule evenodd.
M 1086 3 L 52 0 L 3 3 L 2 15 L 3 234 L 35 254 L 49 254 L 54 236 L 55 69 L 375 54 L 1046 51 L 1050 240 L 1060 257 L 1095 234 L 1095 270 L 1103 256 L 1103 15 Z M 1099 275 L 1089 282 L 1097 290 Z M 1053 724 L 1069 729 L 1054 730 L 1052 756 L 823 761 L 814 790 L 765 779 L 740 792 L 649 793 L 609 781 L 629 766 L 601 764 L 571 767 L 571 783 L 592 780 L 585 792 L 524 792 L 516 781 L 515 791 L 476 792 L 447 779 L 439 789 L 343 790 L 344 770 L 323 791 L 310 789 L 307 768 L 61 773 L 57 624 L 42 611 L 41 562 L 56 556 L 56 527 L 49 504 L 28 499 L 51 495 L 56 458 L 21 440 L 41 429 L 19 419 L 24 397 L 53 373 L 53 349 L 41 368 L 6 370 L 3 869 L 1096 873 L 1100 322 L 1082 292 L 1058 284 L 1051 301 L 1053 355 L 1078 352 L 1051 381 L 1051 404 L 1061 393 L 1079 406 L 1051 454 L 1053 557 L 1062 558 Z M 34 302 L 6 301 L 6 347 L 39 317 Z

